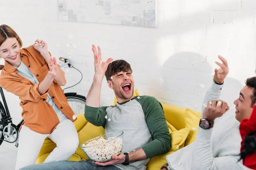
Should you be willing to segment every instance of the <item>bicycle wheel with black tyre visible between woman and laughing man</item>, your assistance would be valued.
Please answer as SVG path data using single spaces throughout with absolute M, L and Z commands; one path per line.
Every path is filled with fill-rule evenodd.
M 86 98 L 76 93 L 65 93 L 67 102 L 75 114 L 84 113 Z

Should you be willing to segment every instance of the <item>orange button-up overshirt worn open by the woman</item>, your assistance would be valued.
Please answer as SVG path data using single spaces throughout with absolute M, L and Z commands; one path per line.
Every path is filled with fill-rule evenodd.
M 22 62 L 29 68 L 32 74 L 42 82 L 48 74 L 49 68 L 40 52 L 31 45 L 20 51 Z M 38 85 L 29 79 L 17 74 L 18 70 L 5 61 L 0 75 L 0 86 L 20 97 L 22 107 L 23 124 L 41 134 L 50 134 L 59 123 L 59 119 L 53 108 L 46 101 L 47 93 L 51 96 L 55 105 L 71 120 L 75 121 L 76 115 L 67 103 L 61 86 L 53 80 L 49 90 L 40 95 Z

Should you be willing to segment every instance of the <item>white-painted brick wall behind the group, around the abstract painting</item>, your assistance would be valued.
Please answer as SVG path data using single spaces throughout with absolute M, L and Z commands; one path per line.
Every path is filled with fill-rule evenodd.
M 255 0 L 158 0 L 158 28 L 138 28 L 58 21 L 57 0 L 0 0 L 0 24 L 14 28 L 24 46 L 43 39 L 55 57 L 68 57 L 73 50 L 70 60 L 84 79 L 67 91 L 87 95 L 93 79 L 91 45 L 95 44 L 101 46 L 103 60 L 113 57 L 133 65 L 140 94 L 180 107 L 197 106 L 195 110 L 200 111 L 218 54 L 229 62 L 223 99 L 231 106 L 244 79 L 255 75 L 255 8 Z M 76 48 L 67 47 L 68 43 Z M 75 70 L 64 71 L 67 86 L 79 81 Z M 10 93 L 6 98 L 17 123 L 19 99 Z M 111 105 L 113 98 L 104 79 L 101 105 Z

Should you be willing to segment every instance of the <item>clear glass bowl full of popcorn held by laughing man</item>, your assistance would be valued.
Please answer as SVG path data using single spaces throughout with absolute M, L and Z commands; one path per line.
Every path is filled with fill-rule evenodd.
M 105 162 L 118 155 L 123 147 L 123 131 L 105 133 L 83 142 L 80 147 L 89 159 Z

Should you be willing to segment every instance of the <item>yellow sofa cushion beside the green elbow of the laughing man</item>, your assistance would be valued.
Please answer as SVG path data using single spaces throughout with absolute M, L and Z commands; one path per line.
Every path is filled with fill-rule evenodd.
M 170 133 L 170 135 L 171 135 L 171 139 L 172 139 L 171 150 L 169 150 L 169 152 L 164 153 L 162 155 L 152 157 L 150 159 L 150 161 L 148 162 L 147 170 L 160 170 L 162 165 L 167 163 L 167 161 L 166 161 L 167 155 L 184 147 L 186 138 L 189 135 L 189 128 L 183 128 L 180 130 L 176 130 L 176 131 Z

